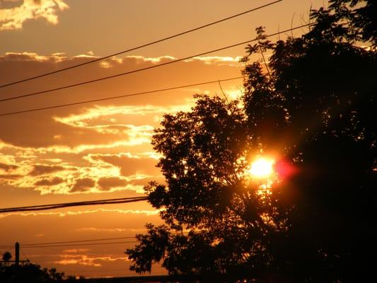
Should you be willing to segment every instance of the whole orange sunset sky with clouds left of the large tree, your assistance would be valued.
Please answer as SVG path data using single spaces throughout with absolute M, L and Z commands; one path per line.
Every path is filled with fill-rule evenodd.
M 0 85 L 54 71 L 180 33 L 271 1 L 0 0 Z M 253 13 L 157 45 L 14 86 L 0 99 L 161 64 L 251 40 L 255 28 L 277 33 L 308 22 L 323 1 L 284 0 Z M 306 30 L 296 30 L 300 35 Z M 281 39 L 291 35 L 280 35 Z M 272 37 L 271 40 L 278 40 Z M 0 102 L 0 115 L 240 76 L 244 47 L 195 57 L 39 96 Z M 269 54 L 266 54 L 268 57 Z M 255 59 L 260 59 L 255 57 Z M 221 83 L 229 98 L 242 79 Z M 0 208 L 143 195 L 163 182 L 150 144 L 164 113 L 190 110 L 192 95 L 223 96 L 219 83 L 0 117 Z M 124 250 L 134 243 L 23 248 L 134 236 L 161 224 L 146 202 L 0 214 L 0 246 L 19 241 L 21 259 L 67 275 L 127 276 Z M 133 241 L 124 240 L 124 241 Z M 8 249 L 0 248 L 0 253 Z M 13 250 L 9 250 L 13 253 Z M 153 273 L 163 272 L 157 268 Z

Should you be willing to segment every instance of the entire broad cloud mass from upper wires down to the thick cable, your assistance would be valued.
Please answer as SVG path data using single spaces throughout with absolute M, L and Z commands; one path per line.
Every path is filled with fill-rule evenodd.
M 45 55 L 8 52 L 0 56 L 0 72 L 4 70 L 0 83 L 87 62 L 93 57 L 96 57 L 93 52 L 77 57 L 68 57 L 64 53 Z M 105 69 L 100 64 L 92 64 L 91 68 L 86 68 L 85 71 L 80 68 L 73 69 L 62 73 L 62 76 L 51 76 L 43 86 L 37 80 L 30 81 L 27 85 L 20 84 L 17 86 L 17 93 L 61 86 L 67 81 L 77 82 L 86 78 L 108 76 L 173 59 L 142 56 L 111 58 L 106 61 L 110 62 L 111 68 Z M 1 112 L 37 108 L 42 104 L 54 105 L 122 93 L 137 93 L 239 74 L 236 67 L 219 68 L 217 63 L 206 63 L 215 61 L 219 64 L 233 64 L 236 59 L 206 57 L 179 62 L 150 74 L 147 84 L 146 74 L 141 72 L 89 84 L 85 88 L 62 90 L 49 96 L 11 100 L 4 104 Z M 231 81 L 228 85 L 226 83 L 222 86 L 227 92 L 228 86 L 233 86 L 234 82 Z M 218 83 L 198 86 L 195 89 L 188 87 L 168 91 L 161 93 L 161 96 L 132 96 L 98 104 L 4 116 L 4 123 L 0 123 L 0 163 L 18 168 L 8 171 L 0 169 L 1 185 L 34 189 L 41 195 L 75 193 L 76 197 L 79 197 L 79 192 L 109 194 L 127 190 L 137 195 L 137 192 L 143 192 L 143 186 L 149 180 L 162 179 L 160 169 L 156 168 L 161 155 L 153 152 L 150 142 L 153 128 L 159 127 L 163 114 L 190 110 L 193 93 L 208 91 L 212 94 L 216 90 L 219 90 Z M 0 90 L 1 95 L 8 97 L 11 93 L 4 88 Z M 20 134 L 19 129 L 23 129 L 23 134 Z

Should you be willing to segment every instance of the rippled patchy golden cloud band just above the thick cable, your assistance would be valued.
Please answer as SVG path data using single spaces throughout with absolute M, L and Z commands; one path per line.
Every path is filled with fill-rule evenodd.
M 70 158 L 70 156 L 68 157 Z M 13 187 L 34 188 L 41 195 L 133 191 L 144 193 L 149 180 L 161 178 L 155 167 L 156 154 L 88 154 L 82 156 L 88 166 L 37 163 L 34 158 L 18 158 L 17 166 L 1 163 L 0 182 Z

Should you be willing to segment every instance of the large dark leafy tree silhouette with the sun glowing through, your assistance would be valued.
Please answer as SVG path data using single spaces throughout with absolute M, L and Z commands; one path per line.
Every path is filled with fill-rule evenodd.
M 162 260 L 171 275 L 227 282 L 373 275 L 375 7 L 330 1 L 329 10 L 312 11 L 308 33 L 276 44 L 257 28 L 243 58 L 242 103 L 195 96 L 190 112 L 164 116 L 152 144 L 166 183 L 145 190 L 166 224 L 137 235 L 126 251 L 131 270 L 149 272 Z M 272 52 L 269 74 L 249 61 L 260 52 Z M 261 152 L 296 170 L 264 194 L 245 174 Z

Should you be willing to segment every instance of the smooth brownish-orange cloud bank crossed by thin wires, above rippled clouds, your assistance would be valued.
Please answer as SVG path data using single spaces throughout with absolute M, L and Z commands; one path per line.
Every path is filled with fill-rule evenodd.
M 94 54 L 85 57 L 67 57 L 64 53 L 46 55 L 32 52 L 8 52 L 0 56 L 0 72 L 4 70 L 4 76 L 0 77 L 0 83 L 88 62 L 91 59 L 88 56 L 95 57 Z M 164 58 L 168 59 L 168 57 Z M 100 67 L 100 64 L 92 64 L 91 68 L 86 69 L 85 72 L 77 68 L 70 72 L 64 72 L 62 76 L 51 76 L 43 83 L 43 86 L 37 80 L 30 81 L 27 86 L 21 84 L 18 86 L 17 92 L 52 88 L 62 86 L 67 81 L 75 83 L 88 78 L 109 76 L 144 66 L 149 67 L 153 66 L 153 61 L 158 60 L 161 60 L 161 57 L 153 58 L 153 60 L 147 57 L 112 59 L 114 67 L 110 69 L 104 69 Z M 172 65 L 161 68 L 156 74 L 148 76 L 148 84 L 145 83 L 146 74 L 140 72 L 132 76 L 88 84 L 85 88 L 62 90 L 59 93 L 51 93 L 49 96 L 11 100 L 7 102 L 7 106 L 2 112 L 37 108 L 42 104 L 54 105 L 66 101 L 76 102 L 138 93 L 237 75 L 239 75 L 239 70 L 236 67 L 219 68 L 216 64 L 205 64 L 204 61 L 196 59 L 192 62 L 179 62 L 174 67 Z M 222 86 L 226 91 L 226 82 Z M 28 146 L 40 152 L 54 153 L 76 154 L 82 151 L 113 149 L 115 146 L 147 146 L 151 140 L 151 129 L 158 127 L 164 113 L 190 110 L 193 105 L 192 94 L 206 91 L 214 93 L 214 89 L 219 90 L 218 83 L 198 87 L 195 90 L 184 88 L 145 96 L 132 96 L 127 99 L 57 108 L 54 111 L 17 115 L 19 119 L 6 116 L 2 118 L 5 122 L 0 125 L 0 138 L 7 144 L 24 148 Z M 1 94 L 5 97 L 10 95 L 7 89 L 0 90 L 0 96 Z M 28 119 L 29 115 L 33 115 L 33 119 Z M 23 127 L 22 137 L 16 131 L 18 127 Z M 137 135 L 136 138 L 135 135 Z

